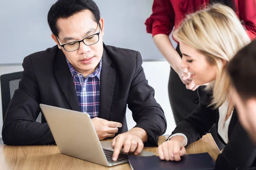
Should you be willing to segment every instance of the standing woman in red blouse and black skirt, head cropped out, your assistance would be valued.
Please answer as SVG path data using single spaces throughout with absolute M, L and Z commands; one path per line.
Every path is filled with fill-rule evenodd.
M 168 91 L 176 124 L 198 107 L 200 99 L 205 97 L 205 92 L 195 85 L 187 70 L 180 68 L 179 45 L 175 50 L 169 34 L 173 27 L 176 29 L 180 25 L 186 14 L 194 13 L 212 3 L 223 3 L 233 8 L 247 29 L 249 37 L 256 37 L 256 9 L 253 5 L 256 0 L 154 0 L 153 13 L 145 22 L 147 32 L 152 34 L 157 48 L 171 65 Z M 198 91 L 195 91 L 197 88 Z M 217 133 L 211 133 L 218 147 L 222 148 Z

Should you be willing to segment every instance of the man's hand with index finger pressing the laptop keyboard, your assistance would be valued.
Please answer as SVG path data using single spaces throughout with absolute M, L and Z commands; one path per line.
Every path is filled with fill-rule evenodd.
M 147 140 L 148 134 L 140 127 L 134 127 L 128 132 L 117 135 L 112 141 L 113 161 L 117 160 L 122 147 L 124 153 L 135 151 L 135 155 L 139 154 L 143 150 L 143 142 L 147 142 Z

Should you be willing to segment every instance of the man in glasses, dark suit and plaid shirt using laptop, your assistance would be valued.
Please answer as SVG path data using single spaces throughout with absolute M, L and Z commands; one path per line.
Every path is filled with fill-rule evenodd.
M 115 136 L 113 160 L 122 147 L 137 154 L 143 143 L 157 146 L 166 119 L 145 79 L 140 53 L 103 43 L 104 20 L 93 0 L 58 0 L 48 23 L 57 45 L 23 60 L 3 122 L 4 143 L 55 143 L 44 116 L 35 122 L 43 103 L 89 113 L 100 140 Z M 127 104 L 137 123 L 129 131 Z

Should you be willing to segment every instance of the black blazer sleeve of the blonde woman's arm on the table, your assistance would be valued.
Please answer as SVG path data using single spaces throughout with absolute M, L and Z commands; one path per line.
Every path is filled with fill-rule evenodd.
M 208 107 L 210 96 L 200 102 L 198 108 L 190 113 L 180 122 L 172 134 L 183 133 L 187 139 L 187 145 L 191 144 L 206 135 L 215 125 L 217 110 Z

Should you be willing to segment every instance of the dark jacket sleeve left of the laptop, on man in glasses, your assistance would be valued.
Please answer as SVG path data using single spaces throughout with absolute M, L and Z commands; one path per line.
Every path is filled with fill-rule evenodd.
M 23 60 L 24 71 L 3 121 L 3 142 L 9 145 L 55 143 L 47 123 L 35 122 L 41 109 L 40 92 L 29 57 Z

